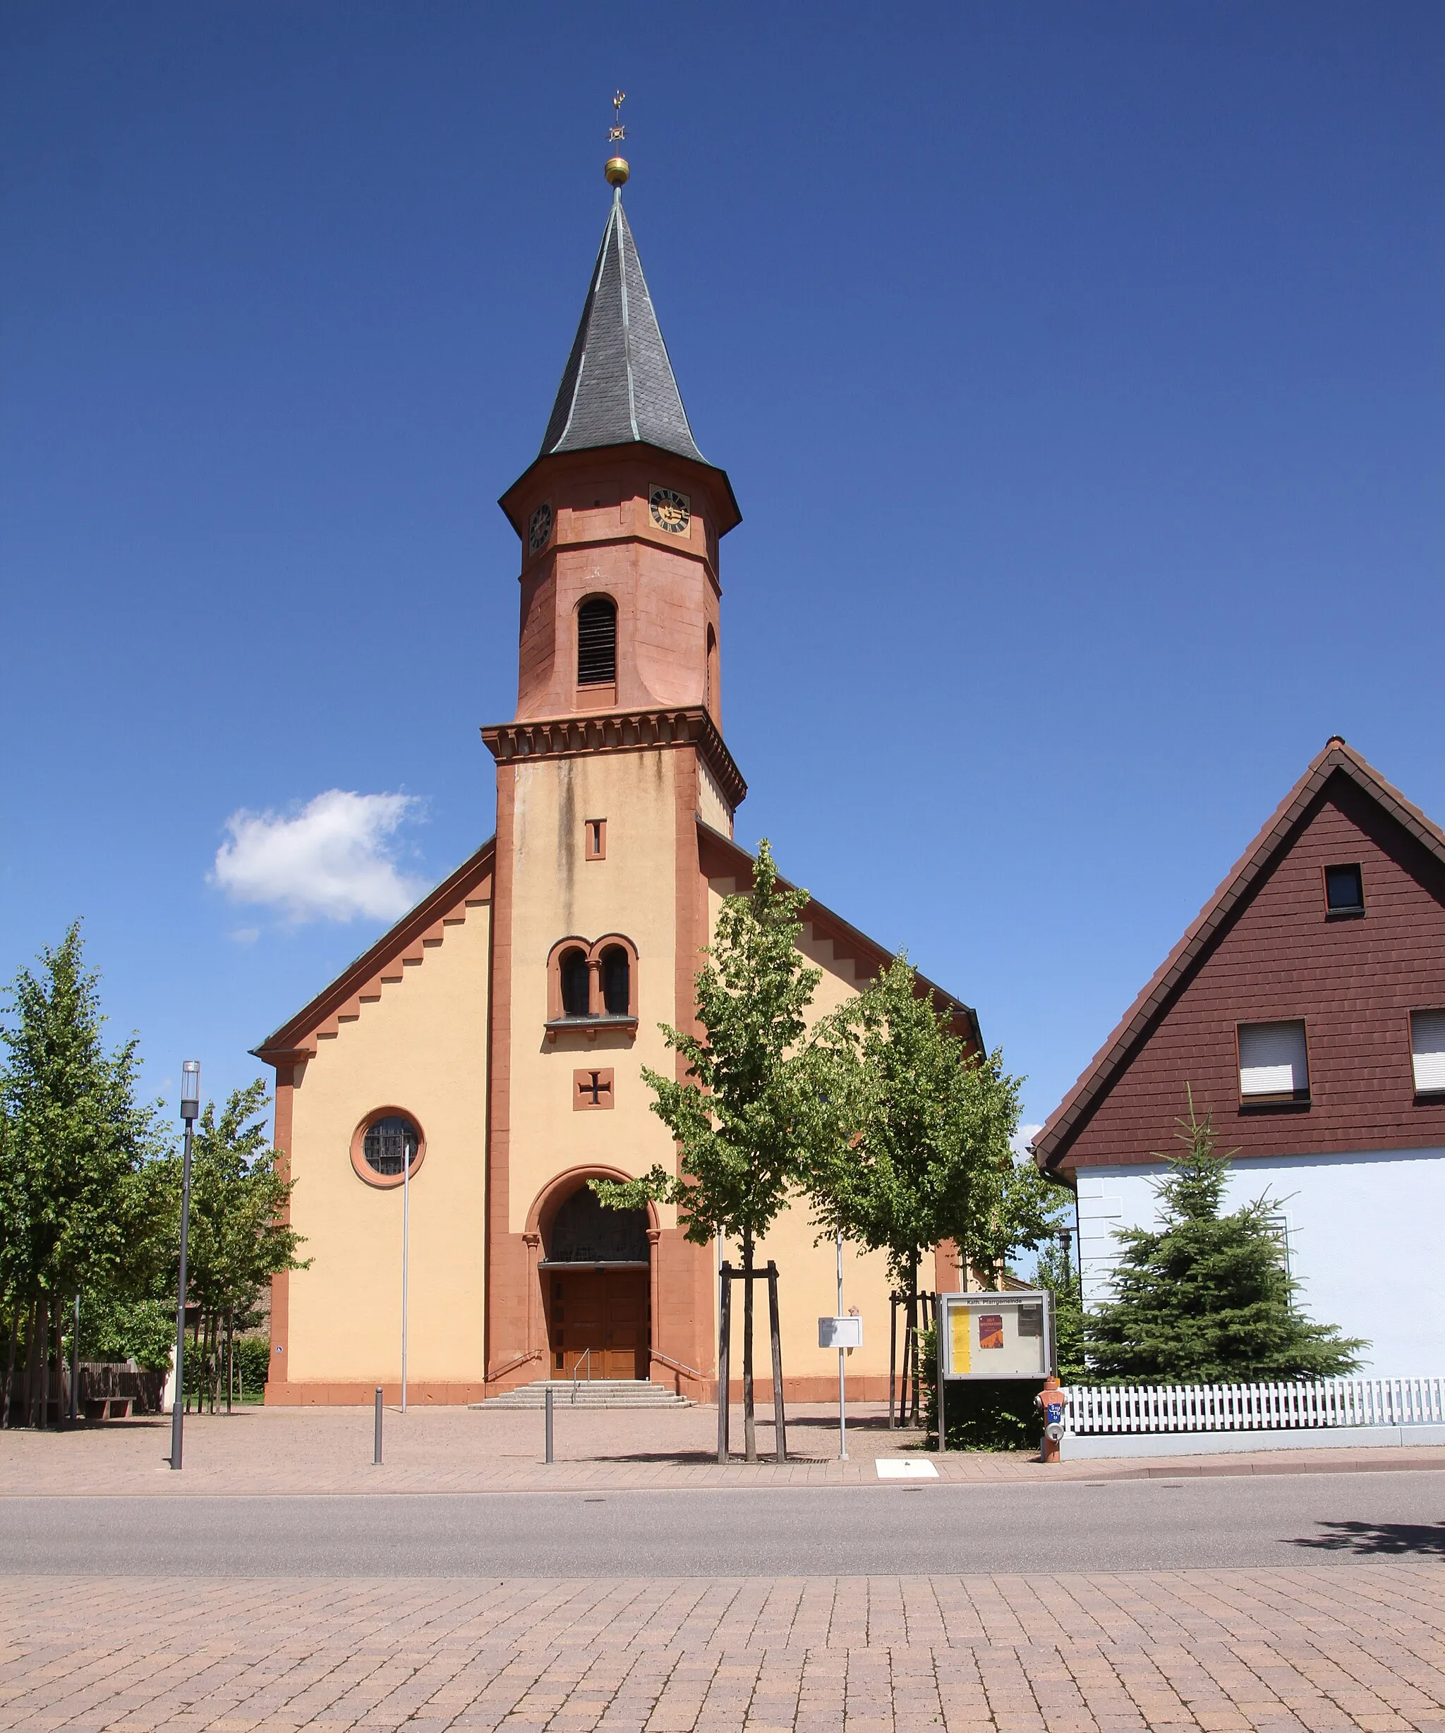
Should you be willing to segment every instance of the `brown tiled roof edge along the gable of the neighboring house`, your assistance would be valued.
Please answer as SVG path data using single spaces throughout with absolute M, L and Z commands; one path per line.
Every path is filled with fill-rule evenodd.
M 1128 1068 L 1138 1048 L 1175 1002 L 1197 967 L 1218 943 L 1225 927 L 1249 896 L 1253 886 L 1291 846 L 1296 825 L 1310 809 L 1331 776 L 1346 776 L 1410 837 L 1445 865 L 1445 832 L 1412 806 L 1398 789 L 1391 787 L 1358 752 L 1338 735 L 1325 742 L 1324 750 L 1280 801 L 1273 816 L 1254 837 L 1228 877 L 1196 915 L 1183 938 L 1130 1005 L 1114 1033 L 1098 1048 L 1092 1064 L 1074 1083 L 1064 1100 L 1048 1116 L 1048 1123 L 1033 1142 L 1034 1158 L 1045 1170 L 1059 1168 L 1069 1154 L 1074 1139 L 1092 1118 L 1118 1078 Z

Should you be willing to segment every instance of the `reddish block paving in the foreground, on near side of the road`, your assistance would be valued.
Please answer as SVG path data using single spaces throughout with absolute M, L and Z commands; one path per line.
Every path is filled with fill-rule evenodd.
M 1445 1728 L 1445 1568 L 0 1584 L 0 1726 Z

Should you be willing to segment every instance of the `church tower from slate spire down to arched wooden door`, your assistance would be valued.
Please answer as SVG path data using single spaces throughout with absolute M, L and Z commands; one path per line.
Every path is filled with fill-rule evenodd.
M 558 1376 L 584 1353 L 594 1374 L 646 1378 L 650 1352 L 705 1364 L 709 1258 L 671 1211 L 589 1251 L 624 1229 L 586 1182 L 676 1159 L 639 1068 L 672 1069 L 658 1024 L 691 1022 L 698 823 L 729 839 L 745 794 L 719 730 L 717 558 L 740 513 L 693 438 L 620 184 L 541 452 L 501 506 L 522 605 L 516 716 L 483 730 L 487 1379 L 535 1378 L 541 1357 Z

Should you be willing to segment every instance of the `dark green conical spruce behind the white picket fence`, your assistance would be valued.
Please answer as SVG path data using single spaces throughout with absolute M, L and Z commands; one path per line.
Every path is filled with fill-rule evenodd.
M 1178 1120 L 1185 1146 L 1156 1182 L 1161 1225 L 1116 1230 L 1114 1298 L 1085 1317 L 1093 1373 L 1126 1383 L 1241 1383 L 1338 1378 L 1367 1341 L 1294 1307 L 1298 1282 L 1270 1227 L 1270 1198 L 1221 1215 L 1228 1156 L 1211 1114 Z M 1164 1158 L 1161 1158 L 1164 1159 Z

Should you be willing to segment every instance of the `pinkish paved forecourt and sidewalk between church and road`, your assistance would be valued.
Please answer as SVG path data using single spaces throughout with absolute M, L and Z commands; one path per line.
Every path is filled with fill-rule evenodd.
M 742 1414 L 733 1416 L 742 1444 Z M 0 1431 L 0 1494 L 324 1494 L 535 1492 L 629 1487 L 877 1485 L 878 1457 L 927 1461 L 946 1482 L 1138 1480 L 1192 1475 L 1301 1475 L 1445 1468 L 1445 1449 L 1284 1451 L 1085 1461 L 1045 1466 L 1026 1454 L 922 1451 L 922 1433 L 889 1431 L 878 1404 L 849 1423 L 837 1459 L 837 1411 L 788 1414 L 790 1461 L 719 1464 L 717 1411 L 556 1411 L 556 1461 L 542 1463 L 542 1416 L 515 1409 L 386 1411 L 385 1466 L 373 1468 L 371 1409 L 237 1409 L 185 1419 L 185 1468 L 166 1466 L 170 1421 L 111 1421 L 78 1431 Z M 759 1426 L 759 1451 L 773 1447 Z

